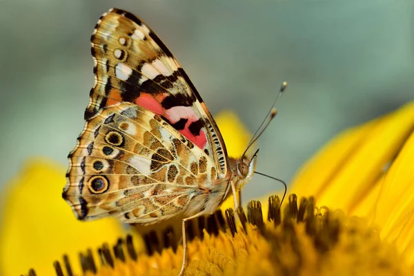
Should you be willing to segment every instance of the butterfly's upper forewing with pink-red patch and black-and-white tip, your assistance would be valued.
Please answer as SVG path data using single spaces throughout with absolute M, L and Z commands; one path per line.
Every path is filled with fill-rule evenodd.
M 91 42 L 95 84 L 85 119 L 119 101 L 136 103 L 204 150 L 219 177 L 228 176 L 226 147 L 213 117 L 155 32 L 135 15 L 111 9 L 99 19 Z

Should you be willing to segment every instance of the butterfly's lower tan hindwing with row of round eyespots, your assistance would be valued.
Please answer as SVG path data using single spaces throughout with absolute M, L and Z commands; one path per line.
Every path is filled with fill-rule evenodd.
M 208 196 L 200 187 L 217 178 L 204 150 L 133 103 L 117 103 L 88 119 L 69 160 L 63 198 L 78 219 L 112 215 L 152 224 L 193 215 Z

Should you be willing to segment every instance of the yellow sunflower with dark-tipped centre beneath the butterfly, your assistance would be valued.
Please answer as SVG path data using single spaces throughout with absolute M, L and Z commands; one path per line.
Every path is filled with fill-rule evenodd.
M 237 117 L 225 112 L 217 124 L 230 155 L 241 153 L 250 135 Z M 412 275 L 413 126 L 411 103 L 329 142 L 299 170 L 282 207 L 271 196 L 192 221 L 186 275 Z M 113 219 L 77 221 L 59 197 L 63 175 L 33 159 L 12 180 L 1 275 L 177 275 L 175 228 L 141 237 Z

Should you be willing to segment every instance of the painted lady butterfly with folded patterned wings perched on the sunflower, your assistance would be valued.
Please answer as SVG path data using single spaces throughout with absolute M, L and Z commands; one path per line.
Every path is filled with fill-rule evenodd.
M 95 83 L 86 124 L 68 155 L 63 199 L 81 220 L 186 221 L 214 213 L 255 172 L 228 157 L 219 128 L 170 50 L 138 17 L 104 13 L 91 37 Z M 273 116 L 274 117 L 274 116 Z M 230 193 L 231 190 L 231 193 Z

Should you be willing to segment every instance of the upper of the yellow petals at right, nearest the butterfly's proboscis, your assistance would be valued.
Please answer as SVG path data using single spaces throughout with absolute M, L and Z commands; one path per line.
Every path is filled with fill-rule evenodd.
M 353 213 L 375 188 L 384 167 L 400 150 L 413 126 L 414 103 L 409 103 L 344 132 L 304 166 L 290 192 L 315 195 L 320 205 Z

